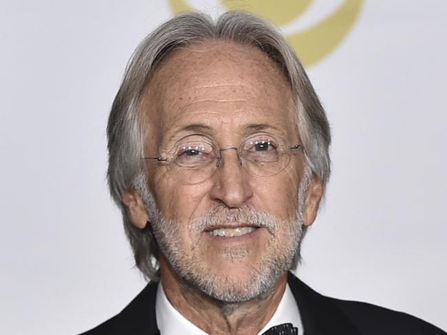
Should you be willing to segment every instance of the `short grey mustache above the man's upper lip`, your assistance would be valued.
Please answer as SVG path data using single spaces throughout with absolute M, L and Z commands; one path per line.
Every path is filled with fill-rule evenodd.
M 208 209 L 201 218 L 189 222 L 191 231 L 202 232 L 225 223 L 239 222 L 265 228 L 274 235 L 279 227 L 279 221 L 271 213 L 259 211 L 248 205 L 238 208 L 228 208 L 216 205 Z

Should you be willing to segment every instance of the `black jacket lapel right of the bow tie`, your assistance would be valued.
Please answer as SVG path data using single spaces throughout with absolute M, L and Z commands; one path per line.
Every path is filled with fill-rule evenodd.
M 331 301 L 289 273 L 287 281 L 303 322 L 304 335 L 360 335 L 358 329 Z

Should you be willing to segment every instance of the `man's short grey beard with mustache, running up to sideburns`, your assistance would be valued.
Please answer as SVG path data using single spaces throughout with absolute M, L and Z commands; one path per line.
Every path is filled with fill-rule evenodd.
M 305 173 L 298 190 L 298 206 L 294 218 L 287 222 L 281 222 L 284 229 L 279 234 L 280 223 L 276 218 L 263 211 L 252 207 L 243 206 L 237 209 L 229 209 L 225 205 L 216 205 L 204 213 L 198 220 L 188 223 L 188 235 L 193 241 L 190 249 L 185 250 L 182 243 L 184 227 L 174 220 L 166 220 L 155 205 L 155 198 L 147 187 L 141 187 L 146 210 L 151 218 L 155 218 L 152 224 L 153 233 L 160 251 L 171 264 L 175 273 L 182 280 L 182 284 L 204 293 L 209 297 L 223 303 L 243 303 L 259 299 L 269 294 L 276 281 L 286 270 L 296 266 L 296 255 L 299 254 L 303 231 L 303 209 L 305 191 L 309 185 L 312 174 Z M 207 227 L 221 222 L 250 222 L 267 229 L 270 240 L 265 246 L 264 255 L 258 268 L 252 266 L 248 269 L 249 278 L 237 280 L 225 273 L 216 272 L 197 261 L 199 250 L 197 242 L 201 233 Z M 182 248 L 183 247 L 183 248 Z M 248 255 L 247 249 L 223 249 L 221 257 L 228 262 L 241 262 Z

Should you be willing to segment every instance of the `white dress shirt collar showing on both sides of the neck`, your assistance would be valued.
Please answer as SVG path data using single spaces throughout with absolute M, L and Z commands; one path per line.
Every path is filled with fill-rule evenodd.
M 155 316 L 161 335 L 208 335 L 208 333 L 186 319 L 171 305 L 168 298 L 166 298 L 166 294 L 164 294 L 161 282 L 158 285 L 157 297 L 155 298 Z M 276 308 L 272 319 L 268 321 L 267 325 L 258 334 L 262 334 L 274 325 L 281 325 L 281 323 L 292 323 L 294 327 L 298 327 L 298 335 L 303 335 L 300 312 L 289 284 L 285 288 L 283 297 L 279 301 L 278 308 Z

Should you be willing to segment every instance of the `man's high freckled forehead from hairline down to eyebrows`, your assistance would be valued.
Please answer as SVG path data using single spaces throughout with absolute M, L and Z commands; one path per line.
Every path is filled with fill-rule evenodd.
M 261 50 L 246 45 L 207 41 L 177 49 L 147 87 L 143 111 L 159 136 L 190 124 L 220 131 L 259 123 L 285 132 L 296 124 L 285 75 Z

